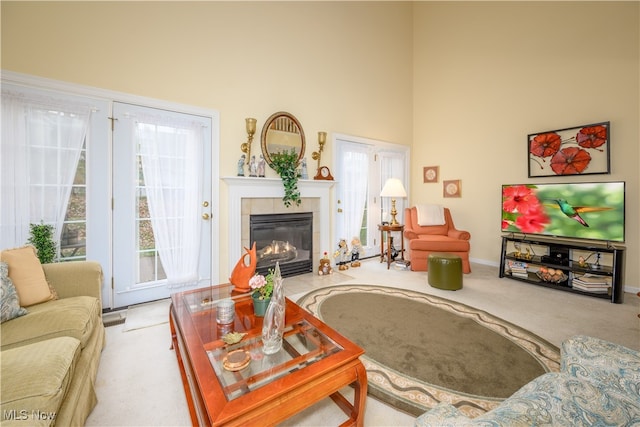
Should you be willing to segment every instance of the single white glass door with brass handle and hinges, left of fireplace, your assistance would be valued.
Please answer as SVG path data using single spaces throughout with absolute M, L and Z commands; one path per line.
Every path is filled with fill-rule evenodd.
M 113 306 L 211 283 L 211 118 L 113 114 Z

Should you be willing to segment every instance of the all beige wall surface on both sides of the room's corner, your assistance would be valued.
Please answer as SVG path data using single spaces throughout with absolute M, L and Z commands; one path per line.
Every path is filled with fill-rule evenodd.
M 244 118 L 260 129 L 279 110 L 302 122 L 309 159 L 321 130 L 413 144 L 411 202 L 447 204 L 473 234 L 472 258 L 488 262 L 500 184 L 557 181 L 527 178 L 526 135 L 609 120 L 612 174 L 575 181 L 627 182 L 626 283 L 637 287 L 638 6 L 3 1 L 1 66 L 218 110 L 221 176 L 235 174 Z M 423 184 L 428 165 L 462 179 L 463 197 Z M 226 227 L 214 237 L 224 248 Z M 220 265 L 226 280 L 224 252 Z

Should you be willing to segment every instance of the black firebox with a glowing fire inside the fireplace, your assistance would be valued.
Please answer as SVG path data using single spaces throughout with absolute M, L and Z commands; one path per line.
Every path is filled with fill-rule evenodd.
M 250 244 L 256 243 L 256 271 L 267 274 L 280 263 L 283 277 L 313 270 L 313 213 L 249 216 Z

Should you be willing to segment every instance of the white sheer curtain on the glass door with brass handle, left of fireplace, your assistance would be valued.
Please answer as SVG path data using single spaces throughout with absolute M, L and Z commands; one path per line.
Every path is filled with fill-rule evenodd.
M 136 117 L 136 121 L 134 140 L 167 284 L 197 283 L 205 128 L 201 123 L 161 115 Z

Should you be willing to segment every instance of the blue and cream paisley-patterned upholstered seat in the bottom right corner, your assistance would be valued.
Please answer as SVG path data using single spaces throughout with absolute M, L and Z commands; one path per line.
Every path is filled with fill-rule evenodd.
M 523 386 L 497 408 L 470 419 L 441 403 L 416 426 L 640 425 L 640 353 L 588 336 L 562 343 L 560 372 Z

